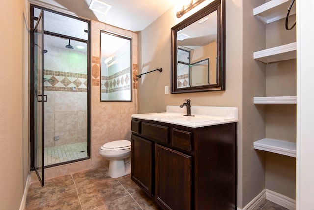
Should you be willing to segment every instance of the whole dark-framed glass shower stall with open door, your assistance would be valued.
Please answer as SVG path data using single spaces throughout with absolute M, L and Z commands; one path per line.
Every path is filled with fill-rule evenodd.
M 31 22 L 31 164 L 43 179 L 43 168 L 90 156 L 90 22 L 34 5 Z

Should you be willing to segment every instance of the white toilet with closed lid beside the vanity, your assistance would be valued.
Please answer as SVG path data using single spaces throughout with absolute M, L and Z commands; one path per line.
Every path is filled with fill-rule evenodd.
M 104 144 L 99 154 L 109 160 L 109 176 L 122 177 L 131 173 L 131 142 L 117 140 Z

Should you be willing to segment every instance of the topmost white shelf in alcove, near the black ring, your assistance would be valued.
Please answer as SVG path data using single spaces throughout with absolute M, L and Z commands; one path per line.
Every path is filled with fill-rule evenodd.
M 285 18 L 291 0 L 272 0 L 253 9 L 254 16 L 263 23 L 268 24 Z M 292 7 L 290 15 L 295 14 L 295 6 Z

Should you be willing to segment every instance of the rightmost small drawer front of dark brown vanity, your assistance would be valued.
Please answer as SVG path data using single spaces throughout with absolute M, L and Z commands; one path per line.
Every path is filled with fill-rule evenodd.
M 191 139 L 192 133 L 184 130 L 172 129 L 172 145 L 186 150 L 191 151 Z

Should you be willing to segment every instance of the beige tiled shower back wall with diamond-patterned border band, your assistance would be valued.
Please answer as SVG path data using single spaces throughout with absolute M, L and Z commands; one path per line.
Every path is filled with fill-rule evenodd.
M 49 45 L 45 48 L 44 146 L 87 142 L 87 54 Z

